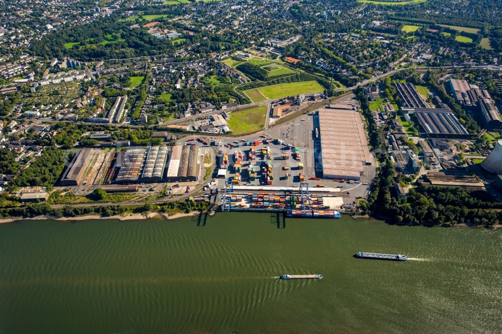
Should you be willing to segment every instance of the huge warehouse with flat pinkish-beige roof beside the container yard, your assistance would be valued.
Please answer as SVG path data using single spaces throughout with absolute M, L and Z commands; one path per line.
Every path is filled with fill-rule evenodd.
M 363 175 L 370 153 L 364 123 L 356 109 L 336 104 L 319 109 L 323 178 L 359 180 Z

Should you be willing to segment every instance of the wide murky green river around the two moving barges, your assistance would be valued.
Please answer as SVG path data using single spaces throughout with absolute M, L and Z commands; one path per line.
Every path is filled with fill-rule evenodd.
M 501 251 L 499 231 L 349 217 L 3 224 L 0 333 L 501 332 Z

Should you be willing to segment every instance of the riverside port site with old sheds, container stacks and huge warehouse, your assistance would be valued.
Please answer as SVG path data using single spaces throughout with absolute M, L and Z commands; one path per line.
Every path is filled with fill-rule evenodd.
M 168 189 L 168 198 L 211 201 L 222 211 L 337 218 L 367 197 L 375 173 L 352 99 L 245 137 L 193 134 L 174 146 L 123 146 L 81 148 L 59 187 L 123 188 L 138 192 L 137 201 Z

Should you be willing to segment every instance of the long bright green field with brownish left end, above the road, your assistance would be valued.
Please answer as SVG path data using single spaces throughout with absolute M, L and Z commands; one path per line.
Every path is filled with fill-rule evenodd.
M 267 99 L 278 99 L 297 94 L 320 93 L 323 91 L 324 87 L 317 81 L 304 81 L 249 89 L 244 91 L 244 93 L 249 96 L 253 102 L 260 102 Z M 260 93 L 265 95 L 266 98 L 260 95 Z

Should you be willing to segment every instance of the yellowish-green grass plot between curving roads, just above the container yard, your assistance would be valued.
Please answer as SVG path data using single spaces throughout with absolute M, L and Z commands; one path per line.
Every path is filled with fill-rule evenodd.
M 265 125 L 267 110 L 267 105 L 259 105 L 240 111 L 234 111 L 230 113 L 230 119 L 227 123 L 233 134 L 257 132 Z

